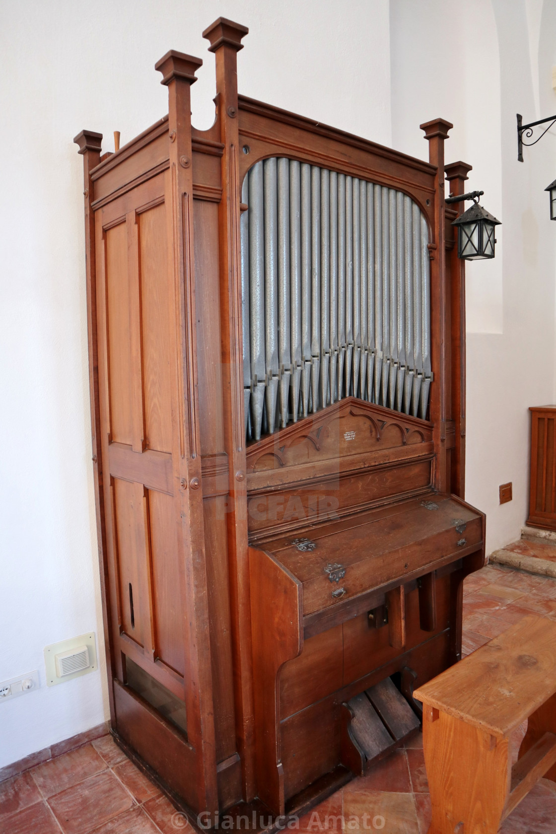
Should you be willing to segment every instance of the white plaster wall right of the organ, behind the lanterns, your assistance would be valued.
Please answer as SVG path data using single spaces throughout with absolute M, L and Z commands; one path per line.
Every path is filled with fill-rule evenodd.
M 503 226 L 494 261 L 467 265 L 467 499 L 487 513 L 487 551 L 519 536 L 528 509 L 528 406 L 554 396 L 554 242 L 543 188 L 547 135 L 517 161 L 516 113 L 556 113 L 553 0 L 391 0 L 393 146 L 426 158 L 415 124 L 453 122 L 446 161 Z M 539 41 L 540 38 L 540 41 Z M 440 67 L 434 56 L 440 58 Z M 540 108 L 541 113 L 538 113 Z M 498 485 L 513 501 L 498 504 Z

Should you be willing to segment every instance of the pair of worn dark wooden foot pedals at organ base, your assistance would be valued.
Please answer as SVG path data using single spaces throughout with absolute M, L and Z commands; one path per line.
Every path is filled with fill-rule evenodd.
M 420 726 L 418 717 L 390 678 L 343 706 L 343 763 L 358 775 Z

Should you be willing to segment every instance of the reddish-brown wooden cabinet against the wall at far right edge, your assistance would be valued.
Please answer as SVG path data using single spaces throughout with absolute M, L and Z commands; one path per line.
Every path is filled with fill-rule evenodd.
M 556 405 L 530 408 L 531 479 L 527 524 L 556 530 Z

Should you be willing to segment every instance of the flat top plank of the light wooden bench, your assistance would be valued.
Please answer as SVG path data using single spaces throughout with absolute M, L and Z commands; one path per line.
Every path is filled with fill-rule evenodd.
M 556 692 L 556 622 L 523 617 L 413 696 L 503 738 Z

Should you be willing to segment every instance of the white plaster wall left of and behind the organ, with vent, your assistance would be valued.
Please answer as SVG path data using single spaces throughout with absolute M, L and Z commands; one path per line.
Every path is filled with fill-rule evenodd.
M 338 9 L 341 8 L 341 14 Z M 213 121 L 219 15 L 250 28 L 242 93 L 391 143 L 388 0 L 4 3 L 0 29 L 0 681 L 42 688 L 0 704 L 0 766 L 108 717 L 105 670 L 47 688 L 43 647 L 102 643 L 88 405 L 83 173 L 73 136 L 113 148 L 167 112 L 154 63 L 205 65 L 193 123 Z M 102 656 L 102 645 L 99 654 Z

